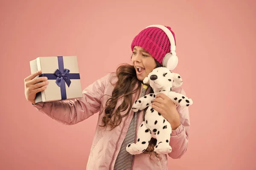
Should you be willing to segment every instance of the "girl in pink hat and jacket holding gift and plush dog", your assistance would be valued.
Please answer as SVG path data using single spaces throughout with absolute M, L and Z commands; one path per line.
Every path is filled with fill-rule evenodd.
M 175 40 L 174 32 L 170 27 L 166 28 Z M 40 112 L 66 125 L 77 124 L 99 112 L 87 170 L 167 170 L 168 156 L 177 159 L 187 150 L 190 126 L 188 107 L 176 106 L 164 94 L 157 95 L 152 103 L 152 108 L 172 126 L 169 140 L 171 153 L 155 153 L 154 138 L 141 154 L 129 154 L 126 146 L 137 141 L 138 124 L 143 121 L 147 109 L 132 112 L 131 107 L 139 97 L 153 92 L 148 84 L 143 84 L 143 79 L 154 68 L 163 66 L 163 58 L 170 52 L 171 43 L 163 29 L 147 27 L 131 43 L 132 65 L 119 66 L 116 72 L 108 73 L 90 84 L 83 90 L 82 98 L 35 104 L 36 93 L 47 88 L 47 78 L 35 78 L 41 74 L 39 71 L 24 80 L 26 99 Z M 38 83 L 40 81 L 43 82 Z M 186 95 L 181 87 L 172 91 Z

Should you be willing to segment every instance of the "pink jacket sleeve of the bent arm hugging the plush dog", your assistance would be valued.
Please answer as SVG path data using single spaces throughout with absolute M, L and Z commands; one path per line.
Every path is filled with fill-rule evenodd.
M 186 95 L 184 89 L 181 88 L 180 94 Z M 177 159 L 186 153 L 188 142 L 189 142 L 189 107 L 180 107 L 177 105 L 177 111 L 180 114 L 180 126 L 176 130 L 172 130 L 172 135 L 170 138 L 170 146 L 172 147 L 172 152 L 168 155 L 171 158 Z

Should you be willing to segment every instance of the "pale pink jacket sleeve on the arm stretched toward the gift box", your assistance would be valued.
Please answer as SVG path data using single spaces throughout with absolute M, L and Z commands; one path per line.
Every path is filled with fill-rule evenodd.
M 64 125 L 77 124 L 99 112 L 111 73 L 96 80 L 83 90 L 82 98 L 32 104 L 37 110 Z

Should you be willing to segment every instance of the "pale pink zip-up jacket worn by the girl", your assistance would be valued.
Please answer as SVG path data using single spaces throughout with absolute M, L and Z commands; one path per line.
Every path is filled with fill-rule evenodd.
M 50 118 L 65 125 L 77 124 L 91 115 L 102 112 L 102 106 L 112 95 L 113 86 L 109 82 L 111 75 L 115 73 L 108 73 L 104 77 L 90 84 L 83 90 L 83 98 L 38 103 L 33 105 L 40 112 L 48 115 Z M 116 78 L 114 79 L 116 81 Z M 146 94 L 148 94 L 147 89 Z M 186 95 L 182 88 L 174 88 L 173 91 Z M 104 97 L 102 97 L 105 95 Z M 140 94 L 134 94 L 138 98 Z M 102 99 L 100 100 L 100 98 Z M 118 101 L 116 107 L 121 104 L 122 100 Z M 177 111 L 180 113 L 181 125 L 172 131 L 170 138 L 170 145 L 172 152 L 167 155 L 160 155 L 161 160 L 155 156 L 149 158 L 149 154 L 139 154 L 134 156 L 133 170 L 168 170 L 167 158 L 180 158 L 186 152 L 188 147 L 189 134 L 189 110 L 188 107 L 177 106 Z M 126 111 L 125 111 L 126 112 Z M 125 114 L 121 112 L 121 114 Z M 143 111 L 139 114 L 137 124 L 143 121 Z M 104 113 L 104 112 L 103 112 Z M 127 133 L 128 126 L 131 122 L 133 112 L 122 119 L 122 123 L 113 130 L 105 130 L 105 127 L 99 127 L 102 124 L 102 114 L 99 115 L 98 124 L 96 126 L 93 144 L 91 146 L 90 155 L 87 162 L 87 170 L 113 170 L 116 157 L 119 153 L 122 141 Z M 139 126 L 137 126 L 138 128 Z M 137 129 L 138 130 L 138 129 Z M 122 132 L 122 133 L 121 133 Z M 107 143 L 106 143 L 107 141 Z M 154 155 L 154 154 L 153 154 Z

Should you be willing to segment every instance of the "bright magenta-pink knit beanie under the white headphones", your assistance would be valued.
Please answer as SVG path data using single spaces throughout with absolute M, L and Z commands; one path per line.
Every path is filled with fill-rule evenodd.
M 169 26 L 165 26 L 168 28 L 174 37 L 175 34 L 171 30 Z M 176 40 L 175 40 L 176 45 Z M 163 32 L 162 29 L 157 27 L 148 27 L 143 29 L 131 43 L 131 50 L 133 51 L 134 46 L 140 46 L 149 52 L 152 57 L 154 57 L 161 65 L 163 62 L 163 58 L 166 53 L 170 52 L 171 43 L 166 33 Z

